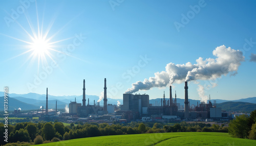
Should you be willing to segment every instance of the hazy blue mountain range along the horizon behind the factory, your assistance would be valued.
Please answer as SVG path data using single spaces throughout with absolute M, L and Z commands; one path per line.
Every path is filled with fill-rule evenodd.
M 4 92 L 0 92 L 0 95 L 4 95 Z M 11 93 L 11 94 L 8 94 L 8 96 L 9 96 L 9 100 L 8 100 L 8 104 L 9 104 L 8 109 L 9 110 L 14 110 L 14 109 L 18 109 L 18 108 L 21 108 L 22 110 L 32 110 L 32 109 L 39 109 L 40 106 L 44 106 L 44 107 L 46 106 L 46 94 L 37 94 L 37 93 L 15 94 L 15 93 Z M 0 103 L 2 105 L 4 104 L 3 98 L 4 98 L 3 96 L 0 97 L 0 99 L 1 99 Z M 94 104 L 94 100 L 95 100 L 95 103 L 97 103 L 97 101 L 99 100 L 99 96 L 86 95 L 87 104 L 88 104 L 88 98 L 90 100 L 89 101 L 90 105 Z M 57 108 L 63 109 L 71 101 L 74 102 L 75 99 L 76 99 L 77 103 L 81 103 L 82 95 L 54 96 L 54 95 L 48 94 L 48 108 L 55 109 L 55 104 L 57 101 Z M 168 98 L 166 98 L 166 100 L 168 100 Z M 213 100 L 215 100 L 215 99 L 212 99 L 211 101 L 213 101 Z M 123 102 L 123 100 L 121 100 L 121 99 L 108 98 L 108 104 L 116 105 L 117 101 L 119 101 L 121 104 Z M 232 100 L 232 101 L 217 99 L 215 101 L 217 103 L 217 107 L 223 107 L 222 108 L 223 110 L 230 110 L 230 108 L 232 108 L 232 106 L 235 107 L 235 109 L 240 109 L 240 107 L 242 108 L 243 106 L 250 106 L 250 108 L 253 109 L 253 105 L 254 104 L 256 105 L 256 97 L 240 99 L 240 100 Z M 197 102 L 200 103 L 200 100 L 189 99 L 189 102 L 190 102 L 190 105 L 193 105 L 193 104 L 197 105 Z M 227 105 L 225 107 L 225 106 L 223 106 L 225 104 L 221 104 L 221 103 L 226 103 L 226 102 L 228 102 L 227 105 L 230 105 L 229 108 L 227 108 Z M 233 102 L 235 102 L 236 104 L 234 104 Z M 184 105 L 184 99 L 177 98 L 177 103 L 179 103 L 180 105 Z M 245 103 L 247 103 L 247 104 L 245 104 Z M 153 106 L 155 106 L 156 104 L 158 106 L 161 106 L 161 99 L 160 98 L 152 99 L 152 100 L 150 100 L 150 104 L 152 104 Z M 100 101 L 100 105 L 103 105 L 103 100 Z M 241 106 L 239 106 L 239 105 L 241 105 Z M 4 110 L 4 106 L 2 106 L 0 109 Z

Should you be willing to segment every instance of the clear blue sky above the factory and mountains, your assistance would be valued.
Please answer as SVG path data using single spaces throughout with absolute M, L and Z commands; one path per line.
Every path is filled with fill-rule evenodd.
M 51 95 L 81 95 L 85 79 L 86 94 L 100 95 L 106 78 L 109 97 L 122 99 L 132 83 L 154 77 L 166 64 L 196 64 L 199 57 L 215 59 L 212 51 L 225 45 L 242 51 L 245 61 L 236 76 L 218 78 L 218 85 L 205 94 L 225 100 L 256 96 L 256 62 L 249 61 L 251 53 L 256 54 L 255 1 L 22 2 L 26 3 L 0 2 L 0 91 L 9 86 L 10 93 L 45 94 L 48 87 Z M 193 12 L 190 6 L 200 10 Z M 182 23 L 183 14 L 189 18 Z M 49 42 L 61 40 L 52 44 L 55 51 L 48 50 L 52 59 L 45 54 L 39 65 L 33 50 L 18 56 L 31 49 L 31 44 L 20 40 L 33 42 L 26 31 L 33 36 L 31 25 L 38 34 L 37 22 L 42 34 L 49 30 L 47 38 L 53 36 Z M 177 29 L 175 22 L 183 27 Z M 254 43 L 246 49 L 244 44 L 250 39 Z M 72 46 L 73 50 L 67 50 Z M 145 56 L 150 58 L 146 63 L 141 59 Z M 57 68 L 52 68 L 53 60 Z M 47 63 L 52 68 L 48 73 L 42 68 Z M 133 68 L 135 72 L 129 75 L 127 70 Z M 35 76 L 42 74 L 47 77 L 35 85 Z M 189 98 L 199 100 L 198 84 L 189 82 L 188 86 Z M 178 98 L 184 98 L 183 82 L 174 83 L 174 90 Z M 163 91 L 168 96 L 168 87 L 137 93 L 155 99 L 161 98 Z

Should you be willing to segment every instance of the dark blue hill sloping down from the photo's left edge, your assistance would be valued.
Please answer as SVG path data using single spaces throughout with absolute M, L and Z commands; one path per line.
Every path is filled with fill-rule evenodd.
M 0 110 L 4 110 L 4 96 L 0 97 Z M 21 108 L 22 110 L 32 110 L 32 109 L 38 109 L 37 106 L 32 105 L 32 104 L 27 104 L 24 102 L 21 102 L 19 100 L 16 100 L 14 98 L 8 98 L 8 110 L 13 111 L 14 109 Z

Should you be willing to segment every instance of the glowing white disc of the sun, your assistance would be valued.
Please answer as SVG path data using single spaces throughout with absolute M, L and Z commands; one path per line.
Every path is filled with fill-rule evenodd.
M 44 38 L 35 38 L 31 44 L 34 56 L 42 57 L 48 54 L 50 44 Z

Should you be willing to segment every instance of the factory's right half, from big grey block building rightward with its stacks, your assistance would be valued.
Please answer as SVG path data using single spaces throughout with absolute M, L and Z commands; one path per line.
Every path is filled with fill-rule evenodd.
M 151 117 L 162 117 L 162 116 L 178 116 L 184 119 L 196 119 L 196 118 L 221 118 L 221 108 L 216 108 L 216 103 L 212 105 L 209 103 L 202 102 L 197 105 L 195 109 L 189 108 L 188 101 L 188 86 L 185 82 L 185 102 L 184 110 L 178 111 L 177 95 L 175 91 L 175 98 L 172 95 L 172 86 L 169 86 L 169 100 L 165 98 L 165 93 L 163 94 L 163 99 L 161 99 L 161 106 L 156 103 L 155 106 L 149 104 L 149 96 L 146 94 L 123 94 L 123 105 L 121 106 L 121 111 L 132 111 L 135 114 L 139 114 L 137 118 L 143 116 Z M 177 106 L 178 105 L 178 106 Z M 195 105 L 194 105 L 195 106 Z M 121 112 L 120 111 L 120 112 Z

